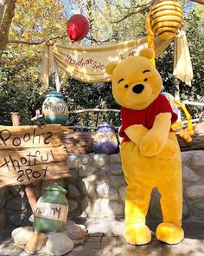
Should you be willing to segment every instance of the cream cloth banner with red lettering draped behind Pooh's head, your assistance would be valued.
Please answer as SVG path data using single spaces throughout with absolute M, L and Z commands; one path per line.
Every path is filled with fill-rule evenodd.
M 156 56 L 167 49 L 171 41 L 156 37 Z M 48 87 L 48 75 L 54 72 L 54 62 L 81 82 L 110 82 L 111 75 L 105 73 L 107 63 L 136 56 L 141 49 L 147 47 L 147 37 L 137 41 L 96 46 L 47 43 L 42 60 L 42 82 Z

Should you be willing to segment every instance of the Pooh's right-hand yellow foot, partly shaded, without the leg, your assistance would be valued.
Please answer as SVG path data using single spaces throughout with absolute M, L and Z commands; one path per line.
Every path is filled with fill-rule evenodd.
M 156 239 L 169 245 L 178 244 L 183 238 L 184 232 L 180 226 L 175 226 L 171 223 L 161 223 L 156 228 Z

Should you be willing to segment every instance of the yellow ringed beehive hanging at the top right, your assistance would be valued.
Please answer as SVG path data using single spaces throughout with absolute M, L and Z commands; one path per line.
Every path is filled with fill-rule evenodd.
M 182 5 L 177 1 L 158 0 L 150 10 L 150 27 L 156 36 L 169 40 L 182 25 Z

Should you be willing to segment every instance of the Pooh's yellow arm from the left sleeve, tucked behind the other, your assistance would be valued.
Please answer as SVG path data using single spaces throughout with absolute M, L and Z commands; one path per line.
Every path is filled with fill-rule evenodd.
M 129 137 L 131 141 L 139 146 L 143 136 L 146 135 L 148 131 L 149 130 L 142 124 L 134 124 L 128 128 L 125 128 L 124 133 Z

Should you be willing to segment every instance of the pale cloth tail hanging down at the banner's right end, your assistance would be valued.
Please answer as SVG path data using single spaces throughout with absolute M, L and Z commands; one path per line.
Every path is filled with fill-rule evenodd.
M 190 60 L 186 33 L 183 29 L 181 29 L 178 35 L 175 36 L 173 75 L 182 80 L 182 82 L 185 82 L 188 86 L 191 86 L 193 68 Z

